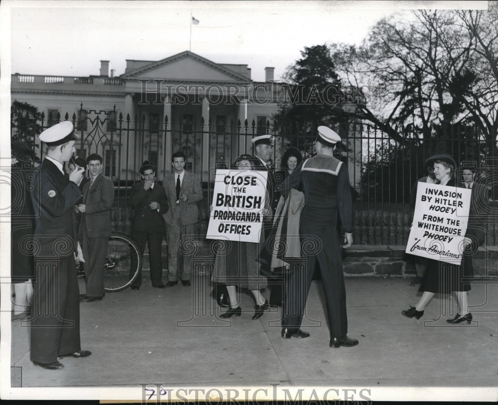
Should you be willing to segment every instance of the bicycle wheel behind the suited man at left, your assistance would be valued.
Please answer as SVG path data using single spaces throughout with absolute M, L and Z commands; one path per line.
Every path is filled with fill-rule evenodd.
M 107 247 L 104 290 L 122 291 L 138 277 L 142 255 L 136 242 L 123 232 L 113 232 Z

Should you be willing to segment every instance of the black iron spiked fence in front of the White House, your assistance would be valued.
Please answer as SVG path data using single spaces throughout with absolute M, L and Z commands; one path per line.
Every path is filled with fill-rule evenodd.
M 113 224 L 115 230 L 130 231 L 132 208 L 129 188 L 140 181 L 139 168 L 144 161 L 156 167 L 159 183 L 171 173 L 171 154 L 181 150 L 187 156 L 186 170 L 202 178 L 204 200 L 200 203 L 200 232 L 206 229 L 211 182 L 216 168 L 230 167 L 242 153 L 253 153 L 253 136 L 271 134 L 275 138 L 273 167 L 278 169 L 284 151 L 292 146 L 303 157 L 313 154 L 315 135 L 293 127 L 274 129 L 270 122 L 213 122 L 195 117 L 182 122 L 159 122 L 152 116 L 130 117 L 110 110 L 84 109 L 71 117 L 45 117 L 38 120 L 41 130 L 60 120 L 71 120 L 80 139 L 77 154 L 83 157 L 98 153 L 104 158 L 103 172 L 116 185 Z M 488 245 L 498 242 L 498 156 L 495 141 L 487 140 L 472 127 L 452 128 L 450 136 L 421 137 L 416 130 L 406 130 L 402 141 L 368 124 L 350 123 L 335 128 L 343 141 L 336 148 L 337 157 L 349 169 L 351 185 L 358 192 L 354 202 L 355 244 L 402 245 L 408 238 L 412 218 L 410 193 L 416 181 L 427 175 L 424 161 L 436 153 L 450 153 L 457 163 L 477 171 L 490 189 L 490 216 L 486 224 Z M 40 130 L 40 127 L 38 127 Z M 11 136 L 29 133 L 11 122 Z M 43 145 L 35 140 L 35 153 L 43 158 Z M 459 176 L 460 171 L 457 171 Z

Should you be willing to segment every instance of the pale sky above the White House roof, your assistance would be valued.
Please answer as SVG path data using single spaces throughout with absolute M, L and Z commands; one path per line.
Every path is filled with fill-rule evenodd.
M 459 2 L 7 0 L 0 7 L 10 11 L 11 73 L 99 75 L 100 60 L 108 60 L 119 76 L 126 59 L 157 61 L 190 49 L 216 63 L 247 64 L 252 80 L 264 81 L 265 67 L 279 79 L 305 46 L 359 44 L 380 18 L 414 4 Z

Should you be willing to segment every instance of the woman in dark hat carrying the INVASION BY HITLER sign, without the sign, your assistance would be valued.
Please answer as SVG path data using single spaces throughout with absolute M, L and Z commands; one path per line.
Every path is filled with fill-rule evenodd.
M 436 184 L 449 187 L 456 186 L 456 163 L 452 156 L 447 154 L 434 155 L 427 159 L 427 162 L 432 162 L 434 165 Z M 470 212 L 469 216 L 472 215 L 473 212 Z M 465 250 L 469 251 L 473 240 L 481 244 L 484 241 L 484 232 L 481 234 L 475 227 L 468 228 L 463 242 Z M 474 248 L 477 247 L 472 246 L 470 250 L 474 250 Z M 471 289 L 468 280 L 473 276 L 472 258 L 466 255 L 465 252 L 462 265 L 451 263 L 444 263 L 443 265 L 439 260 L 428 259 L 427 268 L 418 290 L 422 293 L 422 297 L 415 306 L 410 306 L 409 309 L 403 310 L 401 313 L 408 318 L 415 317 L 419 319 L 424 314 L 426 305 L 429 304 L 436 293 L 450 294 L 455 292 L 460 310 L 453 319 L 447 319 L 447 322 L 461 323 L 466 321 L 471 323 L 472 313 L 469 312 L 467 292 Z

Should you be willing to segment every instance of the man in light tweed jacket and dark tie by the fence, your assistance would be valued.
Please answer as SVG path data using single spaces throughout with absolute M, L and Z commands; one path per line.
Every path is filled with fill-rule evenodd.
M 202 200 L 201 181 L 193 173 L 184 170 L 186 156 L 175 152 L 171 157 L 174 173 L 164 180 L 166 195 L 171 208 L 164 215 L 168 239 L 168 283 L 167 287 L 178 284 L 178 276 L 185 287 L 190 286 L 192 276 L 192 256 L 178 251 L 178 240 L 194 236 L 199 222 L 197 203 Z

